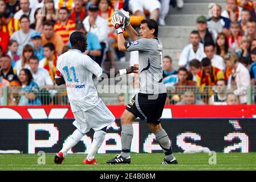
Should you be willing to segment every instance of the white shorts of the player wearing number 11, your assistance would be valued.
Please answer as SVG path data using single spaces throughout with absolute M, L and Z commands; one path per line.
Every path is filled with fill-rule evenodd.
M 83 134 L 88 133 L 91 129 L 99 131 L 116 120 L 103 101 L 90 110 L 76 111 L 73 114 L 75 117 L 73 125 Z

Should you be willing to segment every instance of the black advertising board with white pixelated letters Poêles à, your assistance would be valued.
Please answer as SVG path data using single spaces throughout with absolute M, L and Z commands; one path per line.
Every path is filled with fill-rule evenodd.
M 0 150 L 18 150 L 35 154 L 55 153 L 75 130 L 74 119 L 0 121 Z M 163 119 L 162 126 L 170 137 L 173 152 L 191 147 L 208 147 L 216 152 L 256 152 L 255 119 Z M 132 152 L 162 152 L 147 122 L 133 123 Z M 120 119 L 107 128 L 99 154 L 121 151 Z M 91 130 L 69 153 L 88 153 L 94 132 Z

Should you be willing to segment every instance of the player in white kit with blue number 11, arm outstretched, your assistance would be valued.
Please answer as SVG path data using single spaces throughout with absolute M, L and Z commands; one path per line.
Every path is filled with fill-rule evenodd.
M 54 158 L 56 164 L 61 164 L 67 152 L 74 147 L 82 137 L 91 129 L 95 131 L 94 140 L 84 164 L 97 164 L 95 154 L 105 139 L 107 126 L 115 122 L 115 117 L 98 97 L 97 90 L 92 80 L 92 75 L 100 77 L 105 73 L 110 77 L 110 72 L 103 72 L 100 66 L 89 56 L 84 55 L 87 42 L 82 32 L 73 32 L 70 35 L 70 51 L 60 55 L 56 65 L 56 84 L 66 84 L 68 99 L 77 128 Z M 129 67 L 115 72 L 124 75 L 135 73 L 138 68 Z

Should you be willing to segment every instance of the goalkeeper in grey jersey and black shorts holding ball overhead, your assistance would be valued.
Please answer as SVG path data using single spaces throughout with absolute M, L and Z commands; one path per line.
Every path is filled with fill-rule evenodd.
M 117 31 L 117 44 L 120 51 L 139 51 L 140 92 L 136 94 L 121 115 L 120 155 L 108 160 L 109 164 L 131 163 L 130 150 L 133 138 L 132 122 L 137 117 L 147 118 L 149 129 L 156 136 L 165 158 L 161 164 L 177 164 L 172 154 L 168 134 L 162 129 L 160 119 L 166 100 L 166 88 L 162 77 L 162 44 L 157 39 L 158 24 L 153 19 L 144 19 L 140 25 L 140 37 L 129 23 L 127 11 L 116 10 L 111 19 Z M 125 42 L 124 31 L 133 42 Z

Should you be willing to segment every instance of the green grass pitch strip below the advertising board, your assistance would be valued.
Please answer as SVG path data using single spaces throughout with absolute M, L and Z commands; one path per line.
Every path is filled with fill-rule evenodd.
M 182 154 L 175 153 L 178 164 L 161 165 L 163 154 L 131 154 L 132 163 L 129 165 L 116 164 L 109 165 L 105 162 L 113 158 L 115 154 L 97 154 L 96 160 L 99 165 L 84 165 L 83 159 L 86 155 L 83 154 L 68 154 L 63 164 L 54 164 L 54 154 L 46 154 L 46 164 L 38 164 L 38 155 L 29 154 L 0 154 L 0 170 L 46 170 L 46 171 L 63 171 L 63 170 L 84 170 L 84 171 L 155 171 L 155 170 L 256 170 L 256 153 L 242 154 L 233 152 L 230 154 L 217 153 L 217 164 L 210 165 L 209 158 L 205 153 L 198 154 Z

